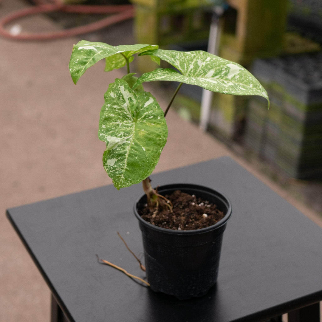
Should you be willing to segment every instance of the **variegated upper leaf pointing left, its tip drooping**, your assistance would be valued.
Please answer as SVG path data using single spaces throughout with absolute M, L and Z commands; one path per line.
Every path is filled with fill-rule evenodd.
M 111 46 L 107 43 L 81 40 L 74 45 L 71 53 L 69 62 L 71 78 L 76 84 L 81 75 L 83 75 L 90 66 L 103 58 L 106 59 L 105 71 L 111 71 L 125 66 L 125 57 L 131 62 L 134 54 L 157 48 L 157 45 L 137 44 Z

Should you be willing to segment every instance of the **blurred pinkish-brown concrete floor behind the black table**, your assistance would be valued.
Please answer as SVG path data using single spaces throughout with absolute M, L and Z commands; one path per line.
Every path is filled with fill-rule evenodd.
M 19 0 L 3 1 L 0 16 L 24 6 Z M 20 23 L 23 30 L 59 28 L 45 16 Z M 119 43 L 126 43 L 121 38 Z M 68 62 L 79 40 L 40 43 L 0 38 L 0 321 L 50 319 L 49 289 L 6 219 L 5 209 L 111 183 L 101 164 L 105 144 L 98 140 L 97 128 L 103 94 L 123 71 L 104 73 L 101 62 L 75 86 Z M 166 106 L 162 97 L 157 98 Z M 322 227 L 316 213 L 223 144 L 172 111 L 167 122 L 168 143 L 155 172 L 229 155 Z

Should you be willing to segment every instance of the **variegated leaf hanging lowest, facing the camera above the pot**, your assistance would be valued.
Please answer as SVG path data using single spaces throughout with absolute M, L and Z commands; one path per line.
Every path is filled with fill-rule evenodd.
M 166 144 L 168 128 L 156 99 L 116 79 L 104 95 L 99 139 L 106 142 L 103 165 L 117 189 L 146 179 Z

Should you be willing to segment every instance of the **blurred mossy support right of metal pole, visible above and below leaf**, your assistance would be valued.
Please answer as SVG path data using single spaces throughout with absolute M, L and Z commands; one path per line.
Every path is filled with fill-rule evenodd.
M 287 33 L 288 0 L 228 0 L 222 21 L 219 56 L 250 69 L 256 58 L 314 52 L 319 44 Z M 247 98 L 214 94 L 209 129 L 226 142 L 240 141 Z

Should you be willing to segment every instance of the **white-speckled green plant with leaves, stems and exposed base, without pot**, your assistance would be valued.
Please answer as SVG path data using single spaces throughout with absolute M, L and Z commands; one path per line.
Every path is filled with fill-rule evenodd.
M 168 62 L 176 68 L 157 68 L 135 77 L 129 63 L 134 54 L 148 55 L 160 64 Z M 105 71 L 127 66 L 127 74 L 109 84 L 100 112 L 98 136 L 106 142 L 103 166 L 117 189 L 142 181 L 151 210 L 171 203 L 150 184 L 154 170 L 166 144 L 166 113 L 183 83 L 201 86 L 213 92 L 233 95 L 259 95 L 269 98 L 256 78 L 241 65 L 204 51 L 179 52 L 158 49 L 157 45 L 137 44 L 111 46 L 106 43 L 80 41 L 73 47 L 69 69 L 76 84 L 81 75 L 105 58 Z M 164 113 L 155 97 L 146 92 L 147 81 L 179 82 Z

